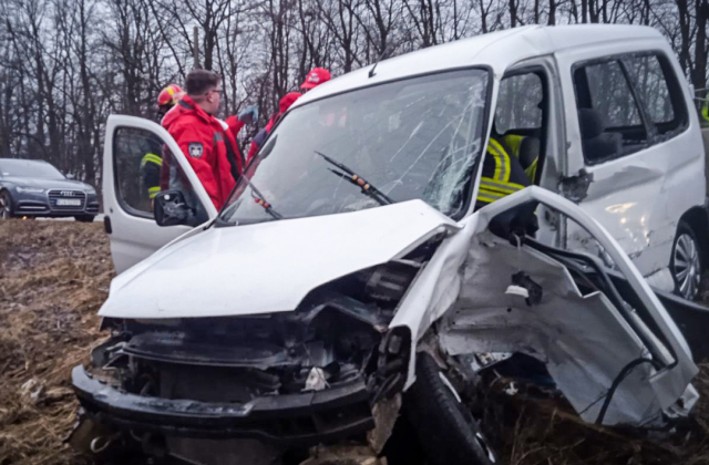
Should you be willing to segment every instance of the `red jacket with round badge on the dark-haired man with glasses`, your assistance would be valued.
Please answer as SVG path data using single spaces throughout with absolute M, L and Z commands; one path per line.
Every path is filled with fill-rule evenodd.
M 244 123 L 236 116 L 226 122 L 227 131 L 188 95 L 163 120 L 163 127 L 179 145 L 217 209 L 226 202 L 245 165 L 236 144 L 236 134 Z

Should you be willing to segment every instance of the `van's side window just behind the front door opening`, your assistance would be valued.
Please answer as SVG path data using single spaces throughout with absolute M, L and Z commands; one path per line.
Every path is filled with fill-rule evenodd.
M 576 65 L 574 89 L 588 164 L 628 155 L 648 140 L 634 89 L 618 59 Z

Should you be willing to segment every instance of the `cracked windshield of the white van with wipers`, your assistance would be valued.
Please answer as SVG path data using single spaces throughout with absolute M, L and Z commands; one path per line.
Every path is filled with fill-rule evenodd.
M 487 71 L 413 78 L 295 108 L 237 184 L 220 223 L 330 215 L 422 199 L 466 205 Z

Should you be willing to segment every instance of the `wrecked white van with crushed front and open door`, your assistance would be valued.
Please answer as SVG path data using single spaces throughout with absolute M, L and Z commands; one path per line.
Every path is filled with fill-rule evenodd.
M 680 256 L 687 286 L 701 270 L 703 156 L 679 76 L 636 27 L 398 56 L 300 99 L 219 213 L 162 127 L 111 116 L 104 207 L 123 272 L 100 312 L 111 339 L 72 373 L 91 426 L 76 435 L 95 453 L 294 463 L 386 438 L 401 407 L 428 463 L 490 464 L 459 385 L 487 353 L 541 362 L 589 422 L 687 415 L 705 338 L 688 344 L 643 278 Z M 542 187 L 476 208 L 493 132 L 533 142 L 520 163 Z M 172 170 L 161 226 L 136 182 L 155 145 Z

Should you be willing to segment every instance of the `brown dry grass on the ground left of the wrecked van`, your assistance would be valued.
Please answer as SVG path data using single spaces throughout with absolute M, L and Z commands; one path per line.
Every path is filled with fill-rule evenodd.
M 1 465 L 80 462 L 63 444 L 78 406 L 70 371 L 99 337 L 112 277 L 101 224 L 0 224 Z

